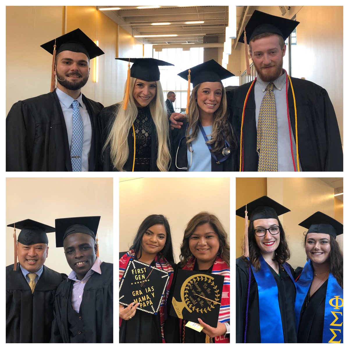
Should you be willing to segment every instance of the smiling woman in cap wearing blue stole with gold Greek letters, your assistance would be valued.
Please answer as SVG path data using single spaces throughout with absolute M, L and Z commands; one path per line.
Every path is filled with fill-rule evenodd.
M 296 279 L 298 343 L 343 343 L 343 253 L 336 242 L 343 224 L 318 211 L 299 225 L 309 230 L 307 262 Z

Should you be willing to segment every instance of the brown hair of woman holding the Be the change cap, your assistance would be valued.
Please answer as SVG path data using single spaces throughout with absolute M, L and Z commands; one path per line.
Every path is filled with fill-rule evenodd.
M 218 235 L 218 239 L 220 242 L 220 248 L 218 250 L 218 255 L 222 257 L 222 259 L 229 265 L 230 259 L 230 247 L 228 244 L 228 235 L 225 232 L 222 223 L 214 214 L 208 212 L 200 212 L 195 215 L 187 224 L 187 227 L 184 231 L 184 237 L 182 244 L 180 245 L 180 264 L 183 268 L 190 257 L 192 257 L 192 253 L 189 250 L 189 238 L 195 229 L 202 224 L 209 223 L 215 233 Z

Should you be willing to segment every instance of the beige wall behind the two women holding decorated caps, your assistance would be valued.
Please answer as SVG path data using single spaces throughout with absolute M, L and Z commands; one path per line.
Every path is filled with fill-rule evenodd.
M 129 250 L 150 214 L 168 218 L 177 262 L 186 224 L 200 211 L 215 214 L 229 236 L 229 187 L 229 178 L 120 178 L 119 251 Z

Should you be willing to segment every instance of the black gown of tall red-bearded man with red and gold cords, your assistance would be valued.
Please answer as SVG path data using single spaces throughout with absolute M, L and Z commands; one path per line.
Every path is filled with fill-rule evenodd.
M 343 151 L 337 118 L 325 89 L 311 81 L 291 77 L 297 107 L 298 152 L 302 171 L 343 171 Z M 245 97 L 252 82 L 227 93 L 234 132 L 240 144 Z M 295 109 L 291 88 L 288 105 L 294 138 Z M 289 140 L 287 140 L 289 142 Z M 257 171 L 257 128 L 254 87 L 247 99 L 243 125 L 244 171 Z M 296 154 L 296 149 L 294 149 Z

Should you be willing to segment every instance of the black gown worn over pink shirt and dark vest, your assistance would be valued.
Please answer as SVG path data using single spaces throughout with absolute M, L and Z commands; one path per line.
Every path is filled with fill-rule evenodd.
M 93 273 L 84 287 L 80 305 L 84 343 L 113 342 L 113 265 L 102 262 L 101 272 Z M 68 279 L 56 291 L 52 343 L 70 343 L 68 305 L 73 284 Z

